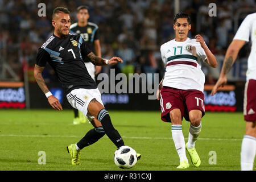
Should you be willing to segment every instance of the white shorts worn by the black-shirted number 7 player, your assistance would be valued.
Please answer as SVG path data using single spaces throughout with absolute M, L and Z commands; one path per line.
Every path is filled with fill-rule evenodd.
M 94 117 L 88 113 L 88 105 L 95 98 L 102 106 L 100 90 L 97 89 L 75 89 L 67 94 L 68 102 L 72 107 L 78 109 L 91 121 Z

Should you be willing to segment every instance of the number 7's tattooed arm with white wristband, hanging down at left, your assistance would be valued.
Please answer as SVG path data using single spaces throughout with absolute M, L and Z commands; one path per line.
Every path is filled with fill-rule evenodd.
M 43 91 L 44 94 L 46 94 L 49 92 L 49 89 L 47 88 L 46 82 L 44 81 L 44 78 L 42 76 L 43 69 L 44 67 L 39 67 L 39 65 L 35 64 L 34 77 L 40 89 Z M 48 96 L 47 99 L 53 109 L 62 110 L 60 101 L 56 97 L 51 95 L 51 96 Z

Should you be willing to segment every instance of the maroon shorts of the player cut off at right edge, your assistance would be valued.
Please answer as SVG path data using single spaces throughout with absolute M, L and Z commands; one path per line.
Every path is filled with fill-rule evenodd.
M 243 97 L 243 115 L 245 121 L 256 121 L 256 80 L 248 80 Z

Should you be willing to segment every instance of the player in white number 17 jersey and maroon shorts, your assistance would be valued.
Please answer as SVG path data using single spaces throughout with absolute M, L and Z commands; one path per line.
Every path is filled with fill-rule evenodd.
M 201 118 L 204 116 L 204 82 L 201 61 L 217 67 L 216 57 L 210 52 L 201 35 L 188 38 L 191 19 L 185 13 L 174 16 L 175 39 L 160 47 L 166 73 L 159 84 L 158 100 L 161 106 L 161 119 L 171 122 L 172 139 L 180 158 L 177 168 L 189 167 L 185 150 L 193 166 L 199 167 L 201 160 L 195 149 L 195 142 L 201 131 Z M 190 121 L 188 142 L 185 144 L 182 132 L 183 117 Z

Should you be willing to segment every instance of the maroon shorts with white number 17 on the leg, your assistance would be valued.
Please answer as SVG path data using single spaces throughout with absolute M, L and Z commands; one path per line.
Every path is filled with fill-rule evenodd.
M 163 86 L 160 90 L 161 119 L 171 122 L 170 111 L 180 109 L 181 119 L 189 120 L 189 111 L 201 110 L 204 116 L 204 93 L 199 90 L 180 90 Z

